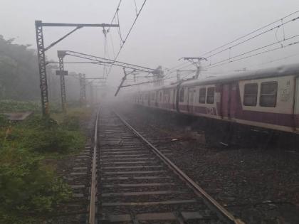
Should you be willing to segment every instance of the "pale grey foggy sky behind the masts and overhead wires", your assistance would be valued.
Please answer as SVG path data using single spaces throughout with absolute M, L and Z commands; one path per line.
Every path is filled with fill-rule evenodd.
M 118 1 L 0 0 L 0 34 L 4 38 L 16 38 L 16 43 L 31 44 L 31 48 L 36 48 L 35 20 L 60 23 L 110 23 Z M 140 9 L 143 0 L 136 1 L 137 8 Z M 148 0 L 117 60 L 149 68 L 157 68 L 158 65 L 172 68 L 180 63 L 178 58 L 199 56 L 207 50 L 221 46 L 298 9 L 298 0 Z M 119 13 L 124 38 L 135 18 L 134 0 L 123 0 Z M 298 23 L 286 28 L 286 34 L 293 34 L 298 30 Z M 45 46 L 71 29 L 44 28 Z M 110 34 L 117 53 L 120 38 L 116 28 L 111 28 Z M 281 35 L 280 31 L 278 35 Z M 263 46 L 275 40 L 273 33 L 270 33 L 254 44 Z M 113 53 L 110 38 L 107 41 L 111 58 Z M 57 50 L 74 50 L 103 57 L 103 46 L 104 36 L 101 28 L 82 28 L 48 50 L 46 55 L 48 59 L 57 60 Z M 241 53 L 242 50 L 251 49 L 252 46 L 253 43 L 249 43 L 248 46 L 232 49 L 231 54 Z M 227 68 L 237 69 L 255 65 L 298 50 L 299 47 L 294 46 L 292 49 L 281 50 L 272 55 L 262 55 L 234 65 L 232 63 Z M 290 59 L 290 62 L 296 60 L 298 57 Z M 78 60 L 67 58 L 65 61 Z M 218 70 L 221 69 L 225 67 Z M 103 74 L 103 68 L 98 65 L 65 65 L 65 70 L 86 73 L 89 77 L 99 77 Z M 113 68 L 110 82 L 117 85 L 121 77 L 122 70 Z

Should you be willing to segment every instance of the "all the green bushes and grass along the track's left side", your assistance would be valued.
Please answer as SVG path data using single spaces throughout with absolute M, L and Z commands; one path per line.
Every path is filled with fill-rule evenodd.
M 16 105 L 18 110 L 20 105 L 36 109 L 31 102 L 11 103 L 13 108 Z M 39 114 L 23 122 L 9 122 L 0 115 L 0 223 L 43 223 L 60 203 L 70 200 L 70 187 L 47 161 L 83 149 L 85 134 L 80 122 L 88 114 L 78 109 L 56 117 L 59 122 Z

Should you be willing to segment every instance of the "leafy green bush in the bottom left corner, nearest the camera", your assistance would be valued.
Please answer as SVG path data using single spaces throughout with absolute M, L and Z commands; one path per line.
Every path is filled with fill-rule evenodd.
M 39 223 L 71 196 L 42 157 L 26 150 L 0 151 L 0 223 Z

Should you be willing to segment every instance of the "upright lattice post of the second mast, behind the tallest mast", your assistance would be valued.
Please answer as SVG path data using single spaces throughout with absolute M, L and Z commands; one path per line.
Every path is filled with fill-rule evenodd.
M 64 76 L 68 75 L 68 71 L 64 70 L 63 58 L 65 54 L 60 50 L 57 51 L 58 61 L 59 61 L 59 70 L 56 70 L 56 75 L 60 75 L 61 78 L 61 107 L 63 113 L 66 112 L 66 94 L 65 94 L 65 79 Z

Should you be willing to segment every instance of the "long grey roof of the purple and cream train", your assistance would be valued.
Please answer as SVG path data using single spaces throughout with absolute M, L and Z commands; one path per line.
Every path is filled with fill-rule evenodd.
M 202 78 L 199 80 L 189 80 L 182 83 L 184 85 L 208 85 L 215 83 L 225 83 L 236 80 L 252 80 L 258 78 L 271 78 L 285 75 L 299 75 L 299 64 L 281 65 L 276 68 L 265 68 L 259 70 L 252 70 L 243 73 L 231 73 L 228 75 L 215 75 L 209 78 Z

